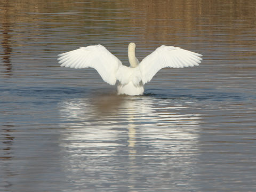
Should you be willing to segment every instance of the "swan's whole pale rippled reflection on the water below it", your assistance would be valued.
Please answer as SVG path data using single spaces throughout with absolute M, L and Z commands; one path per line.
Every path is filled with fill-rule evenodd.
M 73 179 L 84 174 L 77 182 L 123 178 L 130 186 L 141 185 L 140 177 L 169 182 L 173 174 L 191 186 L 186 175 L 194 173 L 201 117 L 189 107 L 171 99 L 113 95 L 63 101 L 66 129 L 60 145 L 69 154 L 66 171 Z

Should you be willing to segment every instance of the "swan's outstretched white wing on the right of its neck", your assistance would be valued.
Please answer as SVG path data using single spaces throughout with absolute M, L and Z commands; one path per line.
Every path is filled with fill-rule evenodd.
M 149 82 L 157 71 L 164 67 L 198 66 L 198 63 L 201 63 L 201 57 L 201 54 L 183 50 L 180 47 L 162 45 L 140 62 L 142 83 Z

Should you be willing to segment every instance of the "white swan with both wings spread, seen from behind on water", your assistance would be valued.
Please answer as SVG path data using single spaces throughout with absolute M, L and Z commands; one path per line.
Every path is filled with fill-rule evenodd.
M 110 85 L 115 85 L 118 80 L 117 94 L 127 95 L 142 95 L 143 85 L 164 67 L 193 67 L 198 66 L 202 60 L 201 54 L 180 47 L 162 45 L 139 62 L 135 57 L 135 47 L 135 43 L 128 46 L 130 67 L 123 66 L 122 62 L 102 45 L 80 47 L 59 54 L 58 60 L 61 67 L 92 67 L 98 71 L 103 81 Z

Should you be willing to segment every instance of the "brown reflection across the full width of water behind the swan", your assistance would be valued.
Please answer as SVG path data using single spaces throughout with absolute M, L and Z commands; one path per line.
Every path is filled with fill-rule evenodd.
M 69 43 L 69 46 L 73 43 L 78 46 L 74 39 L 81 39 L 80 42 L 87 44 L 104 44 L 102 38 L 115 37 L 116 42 L 111 42 L 111 45 L 126 46 L 125 41 L 134 41 L 138 43 L 138 47 L 142 44 L 151 51 L 156 48 L 153 44 L 175 45 L 198 51 L 204 44 L 210 53 L 219 49 L 227 50 L 227 59 L 233 58 L 234 55 L 253 57 L 255 7 L 256 1 L 253 0 L 131 0 L 122 3 L 5 0 L 0 3 L 5 72 L 10 74 L 12 70 L 12 47 L 35 46 L 37 42 L 47 40 L 45 35 L 59 36 L 58 44 Z M 11 31 L 14 32 L 12 39 L 15 39 L 15 42 L 10 41 Z M 222 47 L 218 42 L 222 43 Z M 47 52 L 53 51 L 52 47 L 56 46 L 49 42 L 41 45 L 47 47 L 44 48 Z M 29 50 L 36 50 L 34 46 Z M 237 47 L 242 50 L 239 51 Z M 116 49 L 110 51 L 116 55 L 119 53 Z M 138 58 L 142 59 L 151 51 L 142 54 L 138 51 Z M 201 53 L 206 55 L 202 51 Z

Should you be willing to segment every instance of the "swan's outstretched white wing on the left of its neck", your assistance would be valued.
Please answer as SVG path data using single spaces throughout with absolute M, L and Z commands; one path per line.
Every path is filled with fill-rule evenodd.
M 116 84 L 116 71 L 122 62 L 102 45 L 80 47 L 58 55 L 61 67 L 87 68 L 92 67 L 98 71 L 103 81 L 110 85 Z

